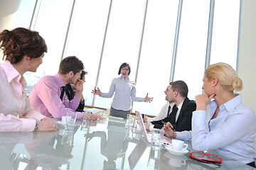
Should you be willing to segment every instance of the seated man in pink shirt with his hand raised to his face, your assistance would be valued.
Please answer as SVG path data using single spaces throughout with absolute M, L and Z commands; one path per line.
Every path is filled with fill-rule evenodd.
M 60 62 L 59 72 L 55 76 L 41 78 L 31 91 L 29 98 L 36 111 L 47 117 L 62 118 L 68 111 L 75 112 L 81 100 L 83 84 L 80 74 L 84 66 L 75 56 L 64 58 Z M 65 95 L 65 84 L 75 84 L 76 94 L 69 101 Z M 77 112 L 77 119 L 85 118 L 85 114 Z M 103 118 L 98 113 L 93 113 L 90 120 Z

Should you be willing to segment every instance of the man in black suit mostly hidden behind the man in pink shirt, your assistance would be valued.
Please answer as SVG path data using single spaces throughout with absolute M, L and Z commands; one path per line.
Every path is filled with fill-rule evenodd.
M 78 79 L 77 81 L 81 80 L 82 84 L 84 84 L 85 83 L 85 74 L 87 74 L 87 72 L 82 70 L 80 79 Z M 76 89 L 74 86 L 75 86 L 75 84 L 70 84 L 70 83 L 65 85 L 65 94 L 67 95 L 69 101 L 72 101 L 73 98 L 75 97 Z M 83 96 L 81 96 L 80 103 L 78 105 L 78 108 L 75 111 L 83 112 L 84 108 L 85 108 L 85 98 Z

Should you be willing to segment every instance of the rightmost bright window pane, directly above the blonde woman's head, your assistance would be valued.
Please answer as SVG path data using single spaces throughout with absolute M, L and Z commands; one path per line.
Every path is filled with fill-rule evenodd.
M 228 8 L 230 4 L 232 8 Z M 226 62 L 236 68 L 240 0 L 215 0 L 210 64 Z

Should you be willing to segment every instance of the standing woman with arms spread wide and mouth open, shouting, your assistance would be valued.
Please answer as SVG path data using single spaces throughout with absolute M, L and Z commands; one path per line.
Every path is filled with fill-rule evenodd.
M 111 98 L 114 94 L 114 98 L 110 108 L 110 115 L 127 118 L 127 115 L 131 113 L 132 101 L 146 101 L 151 103 L 153 98 L 149 98 L 146 94 L 145 98 L 139 98 L 136 96 L 135 82 L 129 79 L 131 73 L 131 67 L 124 62 L 118 71 L 118 75 L 121 77 L 112 80 L 110 91 L 108 93 L 102 93 L 99 88 L 93 89 L 92 93 L 104 98 Z

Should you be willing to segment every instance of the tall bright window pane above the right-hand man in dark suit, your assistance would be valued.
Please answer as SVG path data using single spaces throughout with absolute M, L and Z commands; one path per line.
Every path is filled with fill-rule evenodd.
M 174 70 L 174 81 L 188 85 L 188 98 L 202 93 L 210 0 L 184 0 Z

